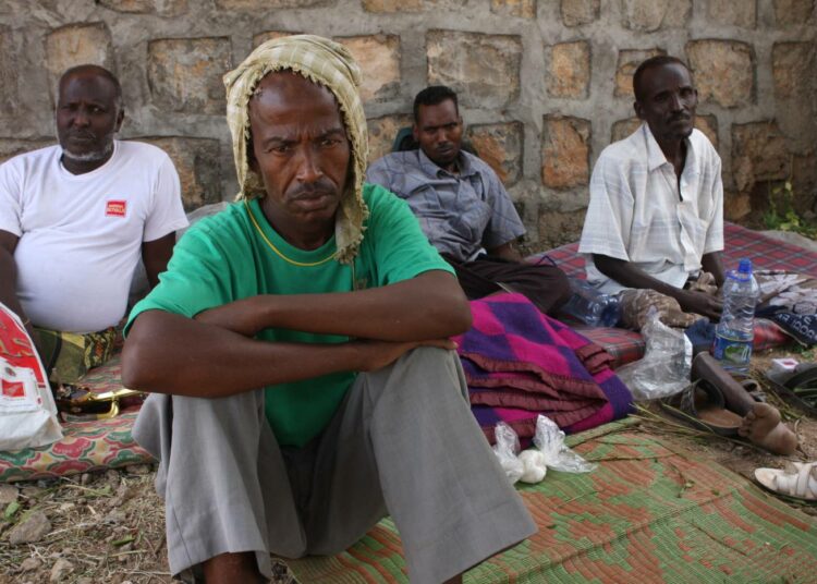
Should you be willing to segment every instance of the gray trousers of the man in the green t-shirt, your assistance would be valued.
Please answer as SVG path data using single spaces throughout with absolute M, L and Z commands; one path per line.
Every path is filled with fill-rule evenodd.
M 153 394 L 134 438 L 159 459 L 173 574 L 224 552 L 338 553 L 391 514 L 412 582 L 436 584 L 536 532 L 477 426 L 460 360 L 416 349 L 361 374 L 327 429 L 280 448 L 264 391 Z

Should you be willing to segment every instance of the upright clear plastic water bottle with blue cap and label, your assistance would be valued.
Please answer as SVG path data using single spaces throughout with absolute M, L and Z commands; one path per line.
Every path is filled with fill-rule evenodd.
M 760 289 L 752 276 L 752 260 L 741 259 L 723 282 L 723 312 L 715 327 L 712 353 L 724 369 L 747 374 L 755 336 L 755 305 Z

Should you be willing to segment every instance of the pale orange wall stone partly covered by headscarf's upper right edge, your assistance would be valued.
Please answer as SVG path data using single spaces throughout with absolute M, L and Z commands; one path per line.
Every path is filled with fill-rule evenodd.
M 371 35 L 336 38 L 354 56 L 363 72 L 361 98 L 383 101 L 400 92 L 400 37 Z

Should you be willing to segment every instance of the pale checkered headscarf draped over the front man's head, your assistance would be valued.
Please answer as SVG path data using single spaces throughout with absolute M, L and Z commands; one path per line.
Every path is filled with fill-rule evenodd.
M 249 99 L 267 73 L 290 70 L 334 95 L 352 146 L 352 169 L 336 218 L 334 235 L 339 261 L 350 263 L 363 240 L 363 221 L 368 209 L 363 202 L 363 181 L 368 156 L 366 115 L 358 94 L 361 69 L 349 50 L 314 35 L 294 35 L 268 40 L 255 49 L 235 70 L 224 75 L 227 123 L 233 138 L 236 198 L 264 196 L 264 183 L 247 161 Z

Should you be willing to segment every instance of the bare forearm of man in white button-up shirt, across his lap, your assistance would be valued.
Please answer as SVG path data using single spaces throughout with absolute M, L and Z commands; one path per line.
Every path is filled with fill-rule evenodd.
M 601 273 L 615 280 L 621 285 L 626 288 L 655 290 L 661 294 L 675 299 L 681 305 L 681 309 L 685 313 L 699 314 L 711 320 L 720 319 L 721 302 L 715 296 L 710 296 L 703 292 L 693 292 L 675 288 L 674 285 L 653 278 L 637 266 L 624 259 L 618 259 L 601 254 L 593 254 L 593 261 Z M 704 266 L 704 268 L 706 269 L 706 266 Z

